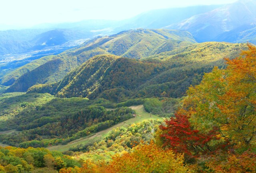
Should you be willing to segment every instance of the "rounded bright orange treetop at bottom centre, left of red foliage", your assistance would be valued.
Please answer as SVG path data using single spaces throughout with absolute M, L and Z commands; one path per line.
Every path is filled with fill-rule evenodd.
M 132 153 L 114 157 L 111 165 L 116 173 L 187 173 L 183 155 L 163 150 L 154 143 L 139 145 Z

